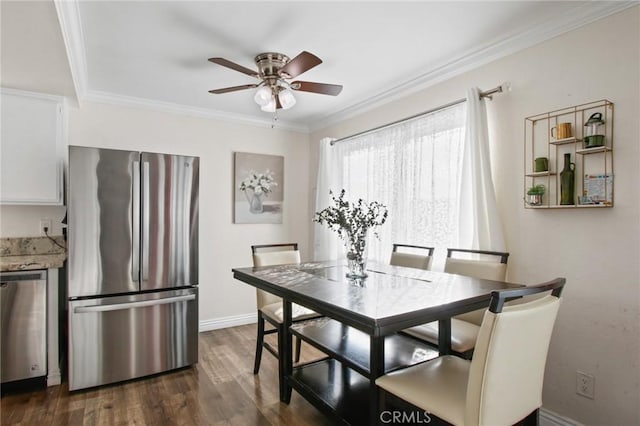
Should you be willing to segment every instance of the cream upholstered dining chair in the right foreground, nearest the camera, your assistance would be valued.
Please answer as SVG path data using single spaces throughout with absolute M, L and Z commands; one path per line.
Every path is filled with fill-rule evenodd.
M 537 424 L 542 384 L 564 278 L 494 291 L 473 360 L 435 358 L 376 380 L 385 392 L 453 425 Z M 508 298 L 551 292 L 504 306 Z M 393 402 L 393 401 L 391 401 Z M 384 409 L 384 408 L 383 408 Z

